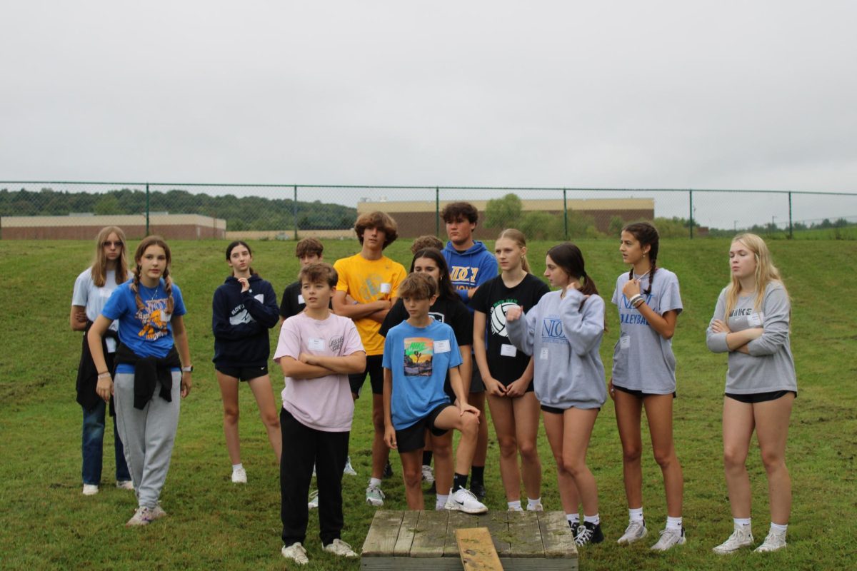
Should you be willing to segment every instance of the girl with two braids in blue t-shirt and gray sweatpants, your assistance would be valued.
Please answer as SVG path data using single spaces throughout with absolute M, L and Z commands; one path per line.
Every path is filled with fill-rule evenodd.
M 96 392 L 116 402 L 137 508 L 127 526 L 145 526 L 166 515 L 159 504 L 178 428 L 179 396 L 188 396 L 191 372 L 182 292 L 170 277 L 170 247 L 160 236 L 144 238 L 134 255 L 134 279 L 114 290 L 87 340 L 98 369 Z M 119 323 L 114 368 L 102 342 Z M 115 383 L 114 383 L 115 378 Z

